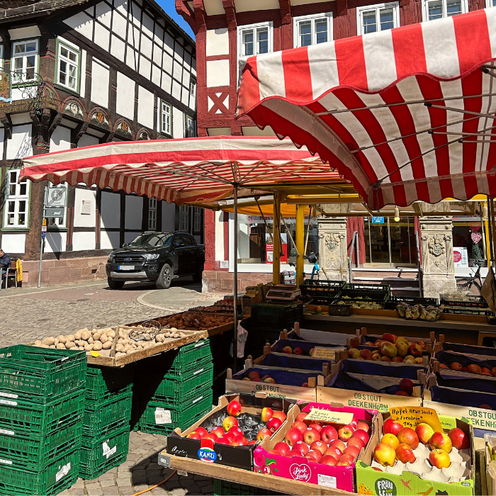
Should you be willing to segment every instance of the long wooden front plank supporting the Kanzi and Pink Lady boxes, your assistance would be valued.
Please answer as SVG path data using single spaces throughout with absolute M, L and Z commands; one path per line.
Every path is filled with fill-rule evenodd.
M 204 475 L 214 479 L 227 480 L 231 483 L 246 484 L 270 491 L 282 492 L 287 495 L 356 495 L 354 492 L 331 489 L 317 484 L 302 483 L 297 480 L 275 477 L 263 473 L 251 472 L 242 468 L 228 467 L 220 463 L 205 463 L 193 458 L 183 456 L 172 456 L 167 453 L 167 449 L 159 453 L 159 465 L 178 470 L 182 473 L 193 473 Z

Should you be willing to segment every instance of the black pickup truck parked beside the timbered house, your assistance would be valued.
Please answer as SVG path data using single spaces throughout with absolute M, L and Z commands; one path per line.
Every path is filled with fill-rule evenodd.
M 125 281 L 154 281 L 167 289 L 176 277 L 201 282 L 205 245 L 188 232 L 144 232 L 108 255 L 108 286 L 120 289 Z

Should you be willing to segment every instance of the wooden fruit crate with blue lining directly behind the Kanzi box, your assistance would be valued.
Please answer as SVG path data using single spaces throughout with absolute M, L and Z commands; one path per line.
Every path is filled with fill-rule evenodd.
M 341 363 L 331 363 L 329 375 L 325 376 L 322 371 L 254 365 L 248 359 L 244 370 L 234 375 L 230 368 L 227 369 L 225 390 L 226 393 L 266 393 L 271 398 L 315 401 L 317 385 L 324 385 L 326 378 L 330 378 L 333 372 L 337 373 Z M 264 377 L 270 380 L 264 380 Z M 244 378 L 250 381 L 244 381 Z

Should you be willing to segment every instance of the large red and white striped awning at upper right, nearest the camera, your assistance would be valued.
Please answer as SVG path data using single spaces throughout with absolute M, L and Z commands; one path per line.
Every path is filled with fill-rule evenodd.
M 368 205 L 496 196 L 496 8 L 247 60 L 238 114 Z

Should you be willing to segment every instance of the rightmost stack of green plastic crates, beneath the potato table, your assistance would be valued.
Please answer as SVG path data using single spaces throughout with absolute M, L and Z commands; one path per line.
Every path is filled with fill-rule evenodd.
M 209 339 L 167 351 L 147 363 L 147 369 L 148 377 L 158 375 L 160 380 L 140 385 L 145 390 L 140 431 L 170 434 L 177 427 L 184 430 L 212 409 L 213 361 Z

